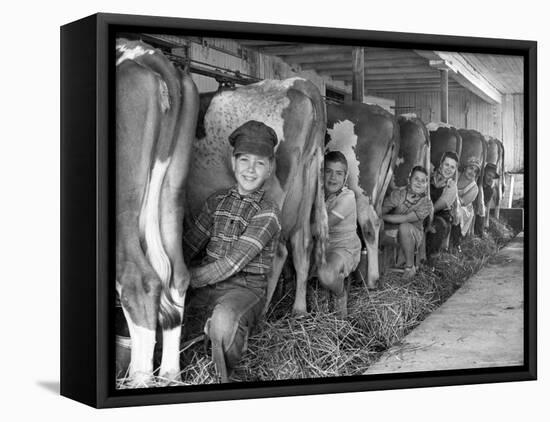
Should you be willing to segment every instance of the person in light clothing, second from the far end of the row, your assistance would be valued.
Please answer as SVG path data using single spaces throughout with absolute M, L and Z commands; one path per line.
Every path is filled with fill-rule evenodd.
M 456 221 L 453 222 L 453 243 L 458 246 L 460 240 L 468 234 L 474 221 L 474 200 L 477 198 L 479 188 L 477 176 L 481 171 L 479 160 L 471 157 L 466 162 L 464 170 L 459 173 L 457 189 L 458 202 L 456 206 Z

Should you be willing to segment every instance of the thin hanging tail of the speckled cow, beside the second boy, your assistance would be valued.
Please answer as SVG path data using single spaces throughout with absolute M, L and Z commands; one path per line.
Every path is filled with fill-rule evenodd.
M 315 152 L 315 170 L 317 183 L 315 191 L 313 237 L 315 239 L 315 262 L 318 265 L 326 263 L 326 250 L 328 243 L 328 215 L 325 206 L 325 192 L 323 186 L 323 148 L 317 147 Z

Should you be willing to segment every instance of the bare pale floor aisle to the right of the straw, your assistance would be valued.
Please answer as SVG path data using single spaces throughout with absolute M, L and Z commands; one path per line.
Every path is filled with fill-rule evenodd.
M 523 364 L 523 234 L 365 374 Z

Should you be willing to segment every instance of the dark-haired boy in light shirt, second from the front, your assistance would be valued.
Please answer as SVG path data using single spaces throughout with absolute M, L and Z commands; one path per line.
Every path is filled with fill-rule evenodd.
M 325 155 L 325 201 L 328 214 L 329 242 L 325 265 L 317 269 L 321 284 L 335 296 L 340 316 L 347 315 L 348 286 L 345 278 L 357 267 L 361 258 L 361 241 L 357 236 L 355 194 L 345 185 L 348 162 L 340 151 Z

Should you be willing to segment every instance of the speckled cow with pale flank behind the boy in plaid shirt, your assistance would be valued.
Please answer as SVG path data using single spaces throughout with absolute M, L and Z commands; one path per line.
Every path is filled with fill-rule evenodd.
M 189 218 L 197 215 L 212 193 L 235 184 L 228 141 L 232 131 L 248 120 L 273 128 L 278 138 L 276 168 L 265 188 L 281 210 L 282 229 L 264 313 L 288 256 L 289 242 L 296 270 L 293 312 L 306 314 L 310 254 L 315 243 L 315 255 L 323 262 L 328 239 L 322 179 L 326 110 L 321 94 L 311 82 L 291 78 L 201 94 L 200 101 L 187 180 Z

